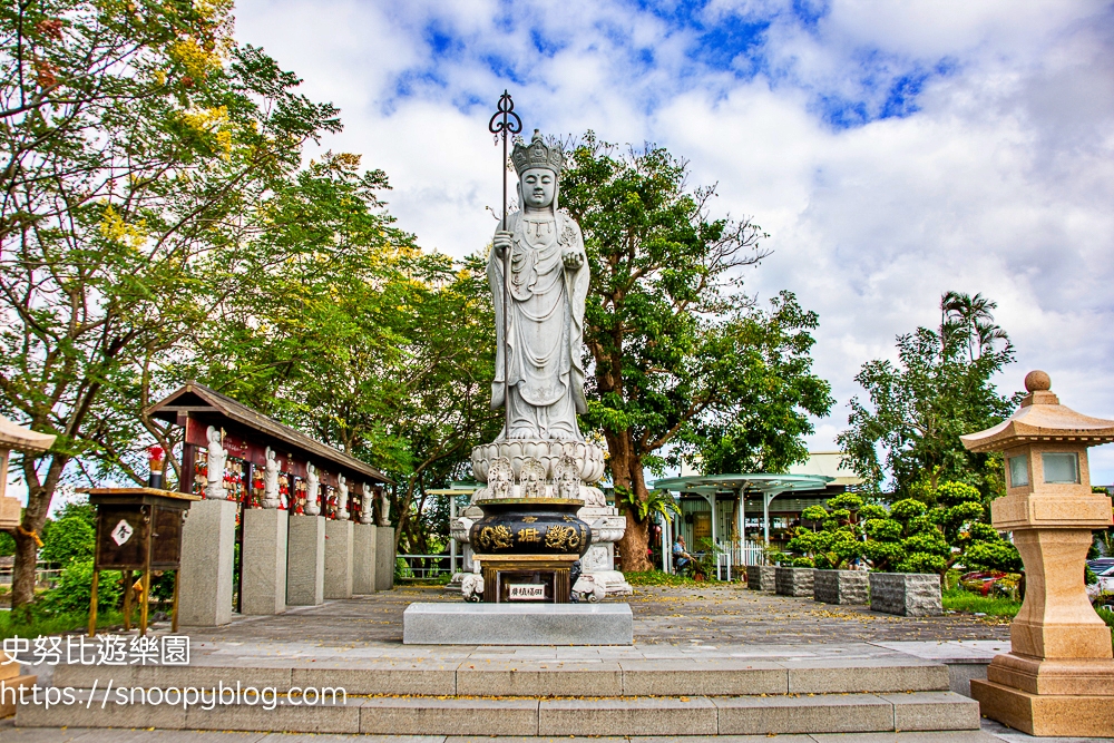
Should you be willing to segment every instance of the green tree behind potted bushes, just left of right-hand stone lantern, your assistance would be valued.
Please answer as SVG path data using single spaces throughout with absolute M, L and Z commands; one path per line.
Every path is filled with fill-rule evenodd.
M 872 491 L 889 482 L 897 499 L 929 500 L 940 481 L 959 480 L 987 495 L 1004 492 L 1000 456 L 969 452 L 959 440 L 1000 422 L 1016 404 L 990 381 L 1014 359 L 1006 332 L 994 324 L 996 306 L 979 294 L 948 292 L 937 330 L 897 338 L 897 364 L 862 365 L 854 380 L 870 407 L 851 400 L 850 428 L 837 441 Z

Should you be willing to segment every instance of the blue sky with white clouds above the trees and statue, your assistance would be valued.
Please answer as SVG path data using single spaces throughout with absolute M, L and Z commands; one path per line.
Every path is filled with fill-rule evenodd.
M 863 361 L 981 292 L 1017 346 L 1114 417 L 1114 7 L 1088 0 L 241 0 L 237 37 L 342 110 L 323 143 L 383 168 L 391 212 L 461 256 L 494 228 L 504 88 L 528 129 L 653 141 L 774 251 L 749 291 L 820 313 L 846 426 Z M 1107 451 L 1108 450 L 1108 451 Z M 1093 480 L 1114 482 L 1114 446 Z

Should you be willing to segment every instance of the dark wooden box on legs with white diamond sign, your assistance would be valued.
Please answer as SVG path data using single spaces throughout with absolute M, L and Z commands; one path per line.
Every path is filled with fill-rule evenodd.
M 101 570 L 124 573 L 124 628 L 131 628 L 131 574 L 143 573 L 139 596 L 139 634 L 147 633 L 147 609 L 153 571 L 177 570 L 182 560 L 182 522 L 193 496 L 157 488 L 88 488 L 97 508 L 89 636 L 97 629 L 97 584 Z M 178 583 L 174 585 L 172 628 L 178 630 Z

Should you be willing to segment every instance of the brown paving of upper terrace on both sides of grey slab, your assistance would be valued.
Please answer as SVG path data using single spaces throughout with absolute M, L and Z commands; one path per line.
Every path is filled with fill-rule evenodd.
M 218 629 L 190 629 L 195 641 L 263 639 L 350 645 L 402 642 L 402 613 L 411 602 L 459 602 L 441 588 L 394 590 L 292 608 L 285 615 L 243 617 Z M 639 587 L 628 597 L 636 645 L 751 643 L 877 643 L 997 639 L 1009 627 L 969 615 L 898 617 L 867 607 L 818 604 L 729 585 L 707 588 Z

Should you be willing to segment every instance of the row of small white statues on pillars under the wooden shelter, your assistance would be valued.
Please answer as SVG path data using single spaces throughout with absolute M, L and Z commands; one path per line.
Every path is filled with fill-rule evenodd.
M 205 438 L 208 440 L 208 465 L 206 468 L 205 497 L 212 499 L 224 499 L 224 470 L 228 461 L 228 450 L 222 444 L 221 431 L 216 427 L 209 426 L 205 432 Z M 263 468 L 263 501 L 261 505 L 263 508 L 280 508 L 282 506 L 282 499 L 278 488 L 278 477 L 281 475 L 278 458 L 275 450 L 271 447 L 266 448 L 264 457 L 266 459 L 266 465 L 264 465 Z M 317 469 L 312 462 L 306 462 L 304 508 L 306 516 L 319 516 L 321 514 L 321 506 L 317 502 L 317 493 L 320 489 L 321 478 L 317 475 Z M 343 521 L 349 518 L 349 486 L 348 480 L 343 475 L 336 476 L 336 490 L 338 497 L 335 517 L 338 520 Z M 380 508 L 377 512 L 375 495 L 374 491 L 372 491 L 371 486 L 367 482 L 363 483 L 363 492 L 361 495 L 360 522 L 371 524 L 372 517 L 374 516 L 379 526 L 390 526 L 390 514 L 388 512 L 387 498 L 383 497 L 380 499 Z

